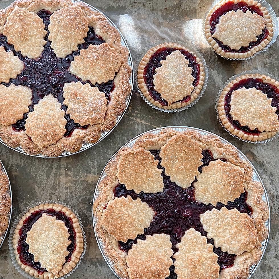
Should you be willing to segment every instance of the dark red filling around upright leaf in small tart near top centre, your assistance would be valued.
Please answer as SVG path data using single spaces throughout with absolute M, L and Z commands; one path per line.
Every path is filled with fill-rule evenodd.
M 162 106 L 167 106 L 168 102 L 161 97 L 161 94 L 154 89 L 154 74 L 155 69 L 161 67 L 160 61 L 165 60 L 166 57 L 171 54 L 173 51 L 176 51 L 177 48 L 160 48 L 154 54 L 151 55 L 149 62 L 144 68 L 143 77 L 145 84 L 148 88 L 150 96 L 158 101 Z M 180 50 L 180 52 L 189 60 L 189 67 L 192 67 L 192 76 L 195 78 L 193 81 L 193 86 L 197 86 L 200 81 L 200 65 L 196 61 L 196 57 L 193 54 L 186 50 Z M 191 99 L 191 96 L 186 96 L 178 102 L 188 102 Z

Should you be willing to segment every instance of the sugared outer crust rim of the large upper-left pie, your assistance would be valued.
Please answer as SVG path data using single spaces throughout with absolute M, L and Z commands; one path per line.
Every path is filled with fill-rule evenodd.
M 74 4 L 71 0 L 17 0 L 9 7 L 0 10 L 0 33 L 3 33 L 6 19 L 15 7 L 22 7 L 35 13 L 46 9 L 53 13 L 63 7 L 70 7 L 72 5 Z M 96 34 L 101 36 L 110 47 L 114 48 L 122 59 L 118 73 L 114 78 L 115 87 L 110 93 L 110 102 L 107 105 L 104 123 L 89 126 L 87 129 L 75 129 L 70 137 L 63 137 L 56 143 L 42 148 L 38 147 L 33 141 L 30 141 L 25 132 L 16 132 L 11 126 L 5 127 L 0 125 L 0 137 L 3 142 L 11 147 L 18 147 L 20 145 L 23 151 L 28 154 L 36 155 L 41 153 L 42 155 L 55 157 L 63 151 L 78 151 L 84 141 L 94 143 L 99 140 L 102 131 L 111 130 L 116 123 L 117 116 L 126 109 L 125 100 L 131 92 L 129 78 L 132 72 L 131 67 L 128 65 L 128 49 L 121 45 L 120 33 L 108 22 L 104 15 L 93 11 L 86 3 L 78 3 L 76 5 L 85 11 L 89 26 L 92 26 Z

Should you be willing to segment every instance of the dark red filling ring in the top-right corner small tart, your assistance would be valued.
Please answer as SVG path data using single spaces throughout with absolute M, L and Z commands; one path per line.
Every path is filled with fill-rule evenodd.
M 215 32 L 216 25 L 219 23 L 219 19 L 222 15 L 225 15 L 226 13 L 229 13 L 230 11 L 237 11 L 237 10 L 241 10 L 244 13 L 246 13 L 249 10 L 251 13 L 257 13 L 261 17 L 263 16 L 262 11 L 255 5 L 249 6 L 245 2 L 239 2 L 239 3 L 235 4 L 233 1 L 228 1 L 227 3 L 222 5 L 219 9 L 214 11 L 214 13 L 212 13 L 210 20 L 209 20 L 209 24 L 211 26 L 211 28 L 210 28 L 211 34 L 213 34 Z M 218 39 L 216 39 L 216 38 L 213 38 L 213 39 L 217 42 L 217 44 L 225 52 L 241 52 L 242 53 L 242 52 L 247 52 L 247 51 L 251 50 L 254 46 L 257 46 L 258 44 L 260 44 L 264 39 L 266 39 L 268 34 L 269 34 L 269 32 L 268 32 L 267 28 L 265 27 L 264 30 L 262 31 L 262 34 L 257 36 L 256 42 L 250 42 L 249 46 L 242 46 L 239 50 L 232 50 L 229 46 L 224 45 L 223 42 L 219 41 Z

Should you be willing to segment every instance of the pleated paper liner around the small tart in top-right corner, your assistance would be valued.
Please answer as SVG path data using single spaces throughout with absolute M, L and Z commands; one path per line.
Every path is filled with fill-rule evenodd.
M 246 58 L 227 58 L 227 57 L 223 57 L 221 56 L 220 54 L 218 54 L 211 46 L 210 48 L 216 53 L 218 54 L 220 57 L 224 58 L 224 59 L 228 59 L 228 60 L 247 60 L 247 59 L 250 59 L 250 58 L 253 58 L 255 57 L 257 54 L 261 53 L 261 52 L 264 52 L 266 51 L 268 48 L 270 48 L 270 46 L 272 46 L 272 44 L 276 41 L 277 37 L 278 37 L 278 34 L 279 34 L 279 28 L 278 28 L 278 20 L 277 20 L 277 17 L 276 17 L 276 14 L 274 12 L 274 10 L 272 9 L 272 7 L 264 0 L 257 0 L 258 3 L 260 3 L 263 7 L 266 8 L 266 10 L 268 11 L 268 14 L 270 15 L 270 19 L 272 20 L 272 28 L 273 28 L 273 36 L 269 42 L 268 45 L 266 45 L 264 48 L 262 48 L 261 50 L 257 51 L 255 54 L 253 54 L 252 56 L 250 57 L 246 57 Z M 210 6 L 210 8 L 208 9 L 205 17 L 204 17 L 204 20 L 203 20 L 203 32 L 204 32 L 204 37 L 206 39 L 206 36 L 205 36 L 205 31 L 204 31 L 204 26 L 205 26 L 205 22 L 206 22 L 206 16 L 208 15 L 208 13 L 210 12 L 210 10 L 217 4 L 221 2 L 221 0 L 215 0 L 212 5 Z M 206 42 L 207 42 L 207 39 L 206 39 Z

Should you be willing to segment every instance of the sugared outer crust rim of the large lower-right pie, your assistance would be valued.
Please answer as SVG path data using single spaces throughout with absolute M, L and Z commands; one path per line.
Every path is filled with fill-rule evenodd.
M 144 134 L 137 139 L 132 148 L 145 148 L 146 150 L 160 149 L 161 146 L 165 145 L 168 139 L 172 136 L 179 134 L 171 128 L 163 129 L 159 134 Z M 252 166 L 242 159 L 238 155 L 238 151 L 235 147 L 222 143 L 219 138 L 216 136 L 208 135 L 202 136 L 196 131 L 186 131 L 183 132 L 186 135 L 191 136 L 193 139 L 196 139 L 202 143 L 203 149 L 210 149 L 213 153 L 214 158 L 223 158 L 227 159 L 235 165 L 239 165 L 243 168 L 245 172 L 245 190 L 248 192 L 247 204 L 253 209 L 252 218 L 255 220 L 255 226 L 257 227 L 259 241 L 266 239 L 268 231 L 264 225 L 265 221 L 268 219 L 269 212 L 267 204 L 262 201 L 262 193 L 264 192 L 260 182 L 253 181 L 253 169 Z M 129 150 L 128 147 L 123 147 L 116 154 L 114 159 L 107 165 L 105 172 L 106 177 L 99 184 L 99 197 L 95 200 L 93 204 L 93 213 L 97 219 L 95 226 L 96 233 L 98 238 L 104 243 L 104 254 L 108 259 L 114 263 L 114 268 L 118 276 L 123 279 L 129 279 L 126 269 L 128 268 L 126 264 L 126 253 L 119 250 L 118 241 L 109 235 L 100 225 L 100 218 L 102 216 L 102 210 L 109 200 L 114 199 L 113 189 L 118 184 L 118 179 L 116 177 L 117 164 L 122 153 Z M 224 156 L 225 154 L 225 156 Z M 249 270 L 251 265 L 259 262 L 262 251 L 259 248 L 254 248 L 250 253 L 243 253 L 240 256 L 237 256 L 234 262 L 234 269 L 227 268 L 225 269 L 223 277 L 219 279 L 234 279 L 237 275 L 247 274 L 249 275 Z M 240 257 L 240 258 L 239 258 Z M 231 277 L 229 277 L 231 275 Z M 220 273 L 220 276 L 222 273 Z M 245 277 L 241 277 L 245 278 Z

